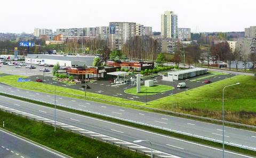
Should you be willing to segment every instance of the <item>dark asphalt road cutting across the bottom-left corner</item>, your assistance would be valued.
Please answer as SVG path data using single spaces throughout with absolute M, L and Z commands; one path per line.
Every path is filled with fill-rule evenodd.
M 0 129 L 0 157 L 44 158 L 65 156 Z

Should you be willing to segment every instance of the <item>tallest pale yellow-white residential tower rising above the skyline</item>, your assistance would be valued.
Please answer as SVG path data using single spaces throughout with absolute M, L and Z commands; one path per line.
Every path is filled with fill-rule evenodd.
M 172 11 L 161 14 L 162 38 L 178 38 L 178 15 Z

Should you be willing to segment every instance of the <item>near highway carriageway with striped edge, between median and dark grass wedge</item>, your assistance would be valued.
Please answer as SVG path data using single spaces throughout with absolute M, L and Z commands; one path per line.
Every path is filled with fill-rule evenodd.
M 54 120 L 54 109 L 52 108 L 3 97 L 1 98 L 0 105 L 0 108 L 2 109 L 17 112 L 24 116 L 33 118 L 41 117 L 40 120 L 45 121 Z M 84 130 L 85 133 L 91 133 L 91 135 L 96 137 L 110 137 L 106 139 L 111 139 L 116 143 L 122 143 L 130 147 L 136 145 L 132 143 L 136 139 L 148 139 L 153 143 L 154 153 L 161 156 L 164 155 L 165 157 L 221 157 L 222 155 L 222 151 L 219 148 L 196 144 L 182 139 L 119 125 L 105 120 L 81 116 L 62 110 L 57 110 L 56 114 L 56 120 L 62 127 L 73 128 L 74 130 L 80 131 Z M 140 150 L 150 151 L 148 148 L 145 148 L 150 147 L 149 144 L 138 144 L 141 145 Z M 225 157 L 249 156 L 226 151 Z

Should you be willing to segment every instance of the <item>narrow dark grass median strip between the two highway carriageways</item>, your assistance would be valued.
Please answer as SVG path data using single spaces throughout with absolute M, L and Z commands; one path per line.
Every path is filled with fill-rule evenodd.
M 10 98 L 15 98 L 15 99 L 19 99 L 19 100 L 22 100 L 22 101 L 28 101 L 28 102 L 31 102 L 31 103 L 40 104 L 42 106 L 54 108 L 53 104 L 43 103 L 43 102 L 40 102 L 40 101 L 29 100 L 29 99 L 25 99 L 25 98 L 20 98 L 19 96 L 14 96 L 14 95 L 9 95 L 9 94 L 0 93 L 0 95 L 4 95 L 4 96 L 8 96 Z M 73 113 L 78 113 L 78 114 L 84 115 L 84 116 L 99 118 L 99 119 L 102 119 L 102 120 L 108 120 L 108 121 L 111 121 L 111 122 L 116 122 L 116 123 L 122 124 L 122 125 L 127 125 L 127 126 L 131 126 L 131 127 L 135 127 L 135 128 L 140 128 L 140 129 L 145 129 L 145 130 L 148 130 L 148 131 L 153 131 L 155 133 L 159 133 L 159 134 L 163 134 L 163 135 L 167 135 L 167 136 L 171 136 L 171 137 L 181 138 L 181 139 L 185 139 L 187 141 L 192 141 L 192 142 L 196 142 L 196 143 L 200 143 L 200 144 L 204 144 L 204 145 L 209 145 L 209 146 L 218 147 L 218 148 L 222 147 L 221 143 L 215 143 L 215 142 L 212 142 L 212 141 L 207 141 L 207 140 L 196 138 L 196 137 L 191 137 L 191 136 L 187 136 L 187 135 L 173 133 L 173 132 L 167 131 L 167 130 L 162 130 L 162 129 L 158 129 L 158 128 L 154 128 L 154 127 L 134 124 L 134 123 L 128 122 L 128 121 L 123 121 L 123 120 L 110 118 L 110 117 L 106 117 L 106 116 L 95 115 L 93 113 L 84 112 L 84 111 L 75 110 L 75 109 L 69 109 L 69 108 L 60 107 L 60 106 L 56 106 L 56 108 L 60 109 L 60 110 L 73 112 Z M 226 150 L 256 156 L 256 152 L 251 151 L 251 150 L 245 150 L 243 148 L 229 146 L 229 145 L 225 145 L 225 148 L 226 148 Z

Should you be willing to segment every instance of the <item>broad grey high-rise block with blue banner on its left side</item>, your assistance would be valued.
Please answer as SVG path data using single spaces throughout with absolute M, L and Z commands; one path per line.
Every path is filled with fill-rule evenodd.
M 110 22 L 109 46 L 110 49 L 121 50 L 122 45 L 136 36 L 136 23 L 134 22 Z

